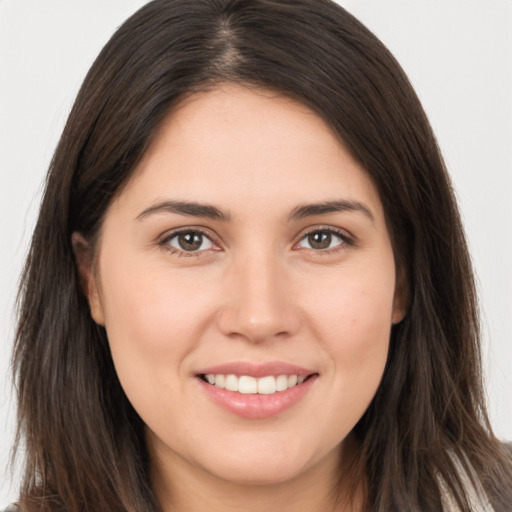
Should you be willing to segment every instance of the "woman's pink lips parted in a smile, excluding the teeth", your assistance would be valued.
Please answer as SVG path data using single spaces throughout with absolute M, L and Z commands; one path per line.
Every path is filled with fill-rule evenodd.
M 286 391 L 279 391 L 271 395 L 243 394 L 227 389 L 218 388 L 206 382 L 202 375 L 250 375 L 252 377 L 266 377 L 268 375 L 298 375 L 308 377 L 302 384 L 293 386 Z M 318 374 L 280 362 L 272 362 L 261 365 L 252 363 L 228 363 L 211 368 L 205 368 L 197 374 L 197 381 L 205 393 L 225 410 L 242 418 L 264 419 L 276 416 L 297 404 L 313 386 Z

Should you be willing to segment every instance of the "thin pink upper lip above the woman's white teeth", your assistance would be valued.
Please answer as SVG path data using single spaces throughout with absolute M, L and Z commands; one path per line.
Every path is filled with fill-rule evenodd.
M 298 377 L 307 377 L 314 373 L 317 372 L 282 361 L 270 361 L 259 364 L 245 361 L 234 361 L 203 368 L 197 372 L 197 375 L 248 375 L 250 377 L 258 378 L 267 377 L 269 375 L 297 375 Z

